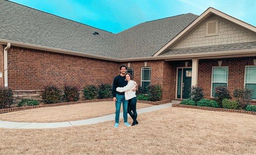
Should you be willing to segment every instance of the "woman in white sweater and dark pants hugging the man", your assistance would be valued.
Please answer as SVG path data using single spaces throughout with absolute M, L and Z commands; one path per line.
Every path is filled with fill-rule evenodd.
M 128 81 L 128 84 L 125 87 L 117 87 L 116 91 L 125 92 L 125 100 L 128 100 L 127 111 L 129 113 L 129 115 L 131 116 L 131 118 L 133 119 L 133 123 L 131 126 L 134 126 L 134 125 L 138 124 L 137 111 L 136 111 L 137 96 L 136 96 L 136 92 L 132 91 L 132 90 L 135 87 L 137 87 L 137 83 L 132 80 L 130 73 L 126 73 L 125 79 Z M 133 113 L 131 112 L 131 110 Z

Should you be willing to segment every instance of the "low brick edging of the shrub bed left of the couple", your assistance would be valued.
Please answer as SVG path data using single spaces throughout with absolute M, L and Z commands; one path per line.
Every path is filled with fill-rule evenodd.
M 35 106 L 26 106 L 26 107 L 11 107 L 7 109 L 0 109 L 1 113 L 9 113 L 13 111 L 27 110 L 27 109 L 36 109 L 40 107 L 57 107 L 62 105 L 71 105 L 71 104 L 81 104 L 81 103 L 89 103 L 89 102 L 99 102 L 99 101 L 112 101 L 113 99 L 93 99 L 93 100 L 84 100 L 84 101 L 75 101 L 75 102 L 63 102 L 63 103 L 55 103 L 55 104 L 41 104 Z

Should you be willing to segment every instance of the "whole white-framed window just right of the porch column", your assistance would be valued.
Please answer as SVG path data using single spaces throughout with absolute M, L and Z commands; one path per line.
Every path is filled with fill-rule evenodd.
M 212 95 L 215 93 L 215 87 L 227 87 L 228 67 L 213 67 L 212 68 Z

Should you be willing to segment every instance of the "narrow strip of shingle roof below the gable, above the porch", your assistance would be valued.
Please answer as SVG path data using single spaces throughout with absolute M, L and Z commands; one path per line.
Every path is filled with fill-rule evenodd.
M 225 45 L 203 46 L 203 47 L 195 47 L 195 48 L 171 49 L 160 54 L 160 56 L 175 55 L 175 54 L 218 52 L 218 51 L 238 51 L 238 50 L 249 50 L 249 49 L 255 49 L 255 48 L 256 48 L 256 42 L 244 42 L 244 43 L 225 44 Z

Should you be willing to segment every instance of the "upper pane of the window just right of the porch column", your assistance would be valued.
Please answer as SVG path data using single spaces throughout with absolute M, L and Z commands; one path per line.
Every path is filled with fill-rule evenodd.
M 227 68 L 213 68 L 212 82 L 227 82 Z

